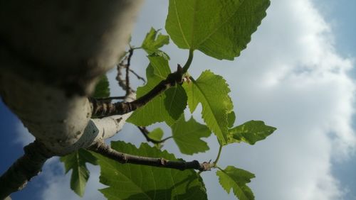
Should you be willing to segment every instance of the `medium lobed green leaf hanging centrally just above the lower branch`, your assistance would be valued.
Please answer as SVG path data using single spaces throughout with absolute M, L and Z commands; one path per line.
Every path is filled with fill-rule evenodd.
M 172 135 L 180 152 L 192 155 L 197 152 L 209 150 L 209 146 L 201 140 L 211 135 L 211 131 L 205 125 L 197 123 L 194 118 L 185 121 L 184 114 L 172 126 Z

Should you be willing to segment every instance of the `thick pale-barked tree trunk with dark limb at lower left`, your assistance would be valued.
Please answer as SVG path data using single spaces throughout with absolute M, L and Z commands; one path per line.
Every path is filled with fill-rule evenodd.
M 141 4 L 0 0 L 1 99 L 41 147 L 28 145 L 0 177 L 0 199 L 41 172 L 48 157 L 88 148 L 122 128 L 130 113 L 90 119 L 88 96 L 125 52 Z

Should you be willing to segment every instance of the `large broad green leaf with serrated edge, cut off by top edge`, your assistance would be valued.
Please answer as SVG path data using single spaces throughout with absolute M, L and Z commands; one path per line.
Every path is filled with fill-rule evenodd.
M 266 16 L 269 0 L 169 0 L 166 30 L 179 48 L 234 60 Z

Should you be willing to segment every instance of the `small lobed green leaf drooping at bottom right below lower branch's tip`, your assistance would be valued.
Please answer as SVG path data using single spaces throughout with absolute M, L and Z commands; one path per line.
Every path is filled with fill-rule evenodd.
M 232 189 L 235 196 L 240 200 L 255 199 L 251 189 L 246 185 L 255 177 L 251 172 L 228 166 L 223 171 L 217 171 L 216 175 L 219 177 L 221 186 L 228 194 Z

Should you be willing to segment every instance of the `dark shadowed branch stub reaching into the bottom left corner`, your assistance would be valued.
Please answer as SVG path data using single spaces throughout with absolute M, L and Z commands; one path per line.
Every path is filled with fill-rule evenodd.
M 23 148 L 25 154 L 14 162 L 0 177 L 0 199 L 5 199 L 26 186 L 27 182 L 41 172 L 43 164 L 54 154 L 35 140 Z

